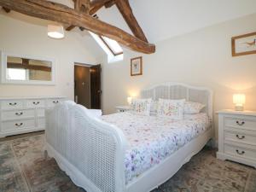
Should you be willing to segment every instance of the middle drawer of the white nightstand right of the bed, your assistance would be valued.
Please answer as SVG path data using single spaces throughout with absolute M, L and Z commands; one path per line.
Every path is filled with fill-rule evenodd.
M 249 135 L 246 132 L 233 132 L 224 131 L 224 140 L 237 143 L 245 143 L 249 145 L 256 145 L 256 132 L 255 135 Z

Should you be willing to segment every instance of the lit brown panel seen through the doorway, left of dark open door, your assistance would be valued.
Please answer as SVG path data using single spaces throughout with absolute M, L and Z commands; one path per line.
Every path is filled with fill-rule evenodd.
M 78 104 L 90 108 L 90 67 L 74 66 L 74 96 Z

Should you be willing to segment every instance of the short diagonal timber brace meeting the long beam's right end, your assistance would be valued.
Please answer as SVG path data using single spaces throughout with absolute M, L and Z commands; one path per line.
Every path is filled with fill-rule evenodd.
M 137 19 L 132 13 L 132 9 L 128 0 L 115 0 L 115 4 L 119 9 L 121 15 L 123 15 L 127 25 L 130 27 L 131 32 L 135 37 L 140 38 L 144 42 L 148 42 L 142 28 L 139 26 Z

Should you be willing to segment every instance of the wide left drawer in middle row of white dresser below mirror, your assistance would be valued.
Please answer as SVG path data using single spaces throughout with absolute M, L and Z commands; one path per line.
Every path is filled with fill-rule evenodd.
M 24 119 L 34 118 L 34 110 L 15 110 L 15 111 L 3 111 L 1 113 L 1 119 Z

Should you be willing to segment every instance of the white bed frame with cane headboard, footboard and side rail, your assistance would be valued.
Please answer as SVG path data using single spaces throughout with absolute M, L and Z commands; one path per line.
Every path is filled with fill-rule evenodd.
M 206 105 L 212 119 L 212 90 L 180 83 L 165 83 L 141 92 L 141 97 L 185 98 Z M 87 192 L 149 192 L 165 183 L 212 138 L 212 126 L 179 148 L 157 166 L 125 184 L 125 148 L 122 131 L 97 119 L 82 106 L 65 103 L 46 114 L 46 145 L 49 157 L 73 183 Z

